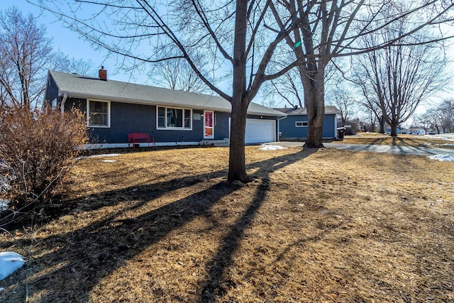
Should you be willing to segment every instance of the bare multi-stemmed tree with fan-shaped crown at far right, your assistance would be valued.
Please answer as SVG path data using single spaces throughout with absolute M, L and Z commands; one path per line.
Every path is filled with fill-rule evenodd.
M 402 7 L 395 9 L 400 13 Z M 394 18 L 391 11 L 385 16 Z M 362 39 L 365 48 L 394 40 L 409 31 L 410 20 L 402 18 L 382 28 L 380 35 Z M 443 73 L 446 60 L 430 33 L 419 31 L 400 38 L 399 45 L 389 45 L 355 58 L 354 77 L 360 86 L 365 106 L 382 116 L 391 126 L 391 136 L 397 136 L 399 124 L 407 121 L 424 99 L 438 92 L 446 83 Z M 406 43 L 403 45 L 402 43 Z

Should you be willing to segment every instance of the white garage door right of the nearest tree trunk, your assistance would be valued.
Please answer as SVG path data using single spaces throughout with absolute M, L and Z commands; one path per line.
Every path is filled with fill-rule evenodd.
M 274 120 L 246 120 L 245 143 L 265 143 L 276 141 L 276 121 Z

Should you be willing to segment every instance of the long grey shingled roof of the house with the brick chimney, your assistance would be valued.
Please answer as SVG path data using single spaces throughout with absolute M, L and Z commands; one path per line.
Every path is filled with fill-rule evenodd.
M 231 103 L 226 99 L 208 94 L 184 92 L 162 87 L 133 84 L 128 82 L 101 80 L 65 72 L 49 71 L 59 89 L 59 94 L 67 97 L 108 99 L 123 103 L 153 104 L 162 106 L 182 106 L 192 109 L 208 109 L 231 112 Z M 280 111 L 250 102 L 248 114 L 259 116 L 286 116 Z

